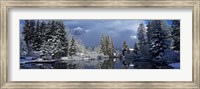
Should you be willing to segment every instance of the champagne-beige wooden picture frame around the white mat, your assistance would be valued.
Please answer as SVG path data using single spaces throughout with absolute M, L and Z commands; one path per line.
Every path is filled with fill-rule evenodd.
M 200 89 L 200 1 L 199 0 L 1 0 L 0 88 L 70 89 L 70 88 L 187 88 Z M 192 81 L 8 81 L 9 41 L 8 10 L 10 8 L 192 8 Z

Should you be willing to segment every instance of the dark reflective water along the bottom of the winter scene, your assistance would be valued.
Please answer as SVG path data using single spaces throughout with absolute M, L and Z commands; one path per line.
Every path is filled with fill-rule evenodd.
M 20 62 L 22 61 L 27 60 L 20 60 Z M 180 69 L 180 63 L 169 65 L 148 60 L 104 58 L 93 60 L 65 60 L 54 63 L 25 64 L 22 62 L 20 69 Z

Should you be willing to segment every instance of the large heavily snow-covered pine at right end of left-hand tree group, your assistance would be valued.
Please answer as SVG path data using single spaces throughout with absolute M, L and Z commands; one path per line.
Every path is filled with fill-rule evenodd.
M 48 21 L 43 36 L 45 40 L 41 46 L 41 51 L 44 56 L 59 59 L 61 56 L 67 55 L 68 40 L 66 38 L 66 31 L 62 21 Z

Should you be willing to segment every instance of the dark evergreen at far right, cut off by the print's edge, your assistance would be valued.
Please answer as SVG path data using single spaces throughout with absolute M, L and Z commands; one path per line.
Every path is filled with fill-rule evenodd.
M 171 24 L 173 50 L 180 51 L 180 20 L 173 20 Z

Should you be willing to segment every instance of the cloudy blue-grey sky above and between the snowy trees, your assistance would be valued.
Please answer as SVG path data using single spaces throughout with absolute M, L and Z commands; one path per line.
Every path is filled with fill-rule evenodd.
M 63 20 L 66 30 L 82 40 L 86 47 L 96 47 L 99 45 L 101 34 L 109 35 L 114 41 L 115 48 L 121 48 L 123 41 L 129 47 L 134 47 L 137 40 L 137 29 L 140 23 L 145 26 L 148 20 Z M 166 20 L 170 25 L 171 20 Z M 20 20 L 20 30 L 22 31 L 23 20 Z M 80 34 L 74 34 L 80 31 Z

